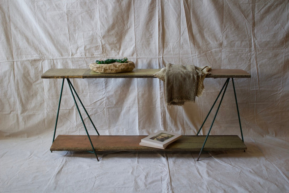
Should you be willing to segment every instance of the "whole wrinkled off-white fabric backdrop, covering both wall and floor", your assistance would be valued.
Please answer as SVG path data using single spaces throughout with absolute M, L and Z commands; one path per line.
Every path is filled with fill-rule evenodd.
M 288 191 L 288 5 L 277 0 L 1 1 L 0 188 Z M 248 151 L 204 154 L 202 162 L 194 161 L 197 154 L 121 153 L 103 155 L 101 162 L 86 153 L 51 154 L 61 80 L 43 80 L 41 74 L 123 57 L 136 68 L 174 63 L 251 73 L 251 79 L 234 81 Z M 158 79 L 78 79 L 73 84 L 101 135 L 160 129 L 194 135 L 224 81 L 206 78 L 206 91 L 194 104 L 171 108 L 164 104 Z M 229 84 L 212 134 L 240 133 Z M 85 134 L 64 86 L 57 134 Z

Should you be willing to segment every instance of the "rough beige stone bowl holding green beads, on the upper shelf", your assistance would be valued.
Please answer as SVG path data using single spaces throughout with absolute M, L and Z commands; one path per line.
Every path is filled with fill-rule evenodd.
M 134 62 L 128 61 L 127 63 L 111 63 L 111 64 L 97 64 L 92 63 L 89 65 L 92 71 L 98 73 L 119 73 L 129 72 L 135 68 Z

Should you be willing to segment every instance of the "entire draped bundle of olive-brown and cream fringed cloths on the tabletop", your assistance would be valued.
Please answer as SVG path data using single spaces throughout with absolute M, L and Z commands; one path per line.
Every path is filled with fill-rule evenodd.
M 204 91 L 203 80 L 211 67 L 195 67 L 194 65 L 175 65 L 168 63 L 153 76 L 165 82 L 166 104 L 184 105 L 194 102 L 196 96 Z

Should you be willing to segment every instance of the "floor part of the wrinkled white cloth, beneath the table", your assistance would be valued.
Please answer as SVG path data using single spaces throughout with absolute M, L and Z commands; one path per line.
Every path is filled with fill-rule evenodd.
M 53 133 L 48 133 L 53 135 Z M 1 140 L 1 192 L 286 192 L 288 140 L 243 151 L 50 152 L 51 136 Z M 7 166 L 7 167 L 3 167 Z

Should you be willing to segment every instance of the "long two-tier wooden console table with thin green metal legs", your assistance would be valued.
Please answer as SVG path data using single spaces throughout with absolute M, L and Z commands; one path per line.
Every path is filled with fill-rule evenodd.
M 203 151 L 214 151 L 214 150 L 244 150 L 245 151 L 247 149 L 247 147 L 244 144 L 239 109 L 238 109 L 238 102 L 237 102 L 236 91 L 235 91 L 234 80 L 233 80 L 234 78 L 251 78 L 251 75 L 244 70 L 240 70 L 240 69 L 212 69 L 210 70 L 209 72 L 211 74 L 207 75 L 206 78 L 226 78 L 226 81 L 221 91 L 219 92 L 215 102 L 213 103 L 208 115 L 206 116 L 203 124 L 201 125 L 199 131 L 197 132 L 197 135 L 184 135 L 177 141 L 167 146 L 165 149 L 140 146 L 139 145 L 140 140 L 144 137 L 147 137 L 147 135 L 143 135 L 143 136 L 142 135 L 126 135 L 126 136 L 124 135 L 112 135 L 112 136 L 99 135 L 97 128 L 92 122 L 75 88 L 73 87 L 71 81 L 69 80 L 70 78 L 155 78 L 153 74 L 158 71 L 160 71 L 160 69 L 134 69 L 131 72 L 123 72 L 123 73 L 97 73 L 97 72 L 91 71 L 90 69 L 49 69 L 48 71 L 43 73 L 41 78 L 62 79 L 62 87 L 61 87 L 60 99 L 58 103 L 58 111 L 56 115 L 53 141 L 52 141 L 52 145 L 50 148 L 51 152 L 52 151 L 89 151 L 89 152 L 93 152 L 97 158 L 97 161 L 99 161 L 97 157 L 98 152 L 200 151 L 199 157 L 197 159 L 197 161 L 199 161 L 200 155 Z M 84 129 L 87 135 L 58 135 L 55 139 L 55 133 L 56 133 L 56 128 L 57 128 L 57 122 L 58 122 L 58 116 L 59 116 L 60 104 L 61 104 L 61 98 L 62 98 L 62 91 L 63 91 L 65 79 L 67 80 L 69 89 L 71 91 L 71 95 L 73 97 L 75 106 L 77 108 L 77 111 L 79 113 L 79 116 L 84 125 Z M 232 80 L 232 85 L 234 89 L 237 115 L 238 115 L 238 120 L 240 124 L 240 132 L 241 132 L 242 139 L 240 139 L 238 135 L 210 135 L 209 136 L 230 79 Z M 221 94 L 222 94 L 221 100 L 218 104 L 216 113 L 214 115 L 214 119 L 212 121 L 212 124 L 210 126 L 210 129 L 207 135 L 199 135 L 199 132 L 201 131 L 205 121 L 207 120 L 209 114 L 211 113 L 214 105 L 216 104 Z M 86 125 L 84 124 L 82 115 L 79 111 L 79 106 L 77 104 L 76 98 L 78 99 L 79 103 L 84 109 L 92 126 L 95 128 L 97 135 L 89 135 Z

